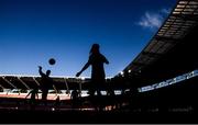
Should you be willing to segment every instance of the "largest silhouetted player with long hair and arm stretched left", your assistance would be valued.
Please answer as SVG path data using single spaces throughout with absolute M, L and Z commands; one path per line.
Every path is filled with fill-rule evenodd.
M 105 86 L 106 82 L 103 64 L 109 64 L 108 59 L 102 54 L 100 54 L 99 47 L 99 44 L 92 45 L 87 64 L 79 72 L 76 73 L 76 77 L 79 77 L 84 70 L 91 66 L 91 87 L 89 90 L 89 94 L 91 96 L 95 94 L 96 91 L 97 95 L 101 95 L 101 84 Z

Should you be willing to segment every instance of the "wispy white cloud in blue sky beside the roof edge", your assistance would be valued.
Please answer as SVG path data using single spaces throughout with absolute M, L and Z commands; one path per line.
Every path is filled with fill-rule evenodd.
M 161 9 L 157 12 L 145 12 L 143 16 L 141 16 L 140 21 L 138 22 L 138 25 L 150 29 L 150 30 L 156 30 L 158 29 L 164 19 L 169 14 L 169 9 Z

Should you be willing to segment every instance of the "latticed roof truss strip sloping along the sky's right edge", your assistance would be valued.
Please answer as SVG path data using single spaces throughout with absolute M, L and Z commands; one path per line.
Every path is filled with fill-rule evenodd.
M 123 70 L 136 73 L 156 61 L 198 24 L 198 0 L 180 0 L 138 57 Z

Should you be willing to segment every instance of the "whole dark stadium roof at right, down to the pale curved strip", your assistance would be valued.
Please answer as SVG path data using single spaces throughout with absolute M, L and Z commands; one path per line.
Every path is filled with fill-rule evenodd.
M 197 68 L 197 61 L 193 59 L 195 57 L 188 57 L 189 55 L 195 54 L 190 49 L 196 46 L 197 25 L 198 0 L 179 0 L 163 25 L 152 37 L 151 42 L 136 58 L 125 67 L 123 72 L 130 73 L 131 76 L 139 73 L 142 79 L 147 79 L 151 77 L 148 73 L 153 73 L 151 77 L 152 79 L 163 80 L 170 78 L 170 76 L 166 76 L 165 73 L 175 71 L 170 70 L 170 67 L 177 67 L 176 65 L 173 66 L 173 64 L 188 61 L 187 64 Z M 175 55 L 175 57 L 173 55 Z M 178 59 L 179 63 L 175 59 L 183 55 L 188 55 L 183 57 L 183 61 Z M 187 67 L 190 67 L 189 65 L 184 67 L 187 69 Z M 164 67 L 169 70 L 163 72 L 163 70 L 165 70 Z M 183 72 L 194 70 L 193 67 L 188 70 L 183 70 L 182 67 L 179 68 Z M 164 77 L 160 78 L 157 73 L 163 73 Z M 172 73 L 172 77 L 177 76 L 178 73 L 175 71 L 175 75 Z M 155 82 L 155 80 L 152 81 L 147 79 L 145 82 Z

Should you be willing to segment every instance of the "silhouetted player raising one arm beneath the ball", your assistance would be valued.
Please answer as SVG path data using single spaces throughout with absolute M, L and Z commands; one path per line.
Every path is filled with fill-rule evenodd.
M 42 71 L 42 67 L 38 66 L 38 72 L 41 75 L 41 90 L 42 90 L 42 100 L 45 102 L 46 104 L 46 100 L 47 100 L 47 94 L 48 94 L 48 90 L 50 88 L 52 88 L 53 84 L 53 80 L 50 78 L 51 75 L 51 70 L 47 70 L 46 73 L 44 73 Z

